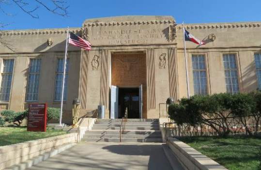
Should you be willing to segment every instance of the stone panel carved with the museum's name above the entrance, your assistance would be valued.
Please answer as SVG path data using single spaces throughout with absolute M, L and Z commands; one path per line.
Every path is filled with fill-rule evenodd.
M 173 43 L 173 24 L 86 26 L 93 46 Z M 171 32 L 170 32 L 171 31 Z M 175 30 L 174 30 L 175 31 Z M 170 36 L 171 35 L 171 36 Z

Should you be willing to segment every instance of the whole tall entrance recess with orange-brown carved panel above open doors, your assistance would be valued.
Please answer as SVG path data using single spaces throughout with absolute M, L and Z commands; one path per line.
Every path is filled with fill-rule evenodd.
M 126 108 L 127 118 L 146 118 L 146 53 L 143 51 L 112 53 L 110 68 L 110 118 L 122 118 Z

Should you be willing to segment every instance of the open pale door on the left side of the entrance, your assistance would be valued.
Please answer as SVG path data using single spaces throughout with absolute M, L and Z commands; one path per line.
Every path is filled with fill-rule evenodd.
M 119 88 L 111 86 L 110 88 L 110 119 L 118 119 L 118 103 L 119 103 Z

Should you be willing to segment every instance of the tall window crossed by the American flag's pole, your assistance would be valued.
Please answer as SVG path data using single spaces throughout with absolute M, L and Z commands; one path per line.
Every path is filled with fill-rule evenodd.
M 55 101 L 61 101 L 61 91 L 62 91 L 62 75 L 63 75 L 63 65 L 64 59 L 58 59 L 57 62 L 57 70 L 56 70 L 56 84 L 55 84 Z M 65 81 L 64 81 L 64 93 L 63 93 L 63 101 L 67 99 L 67 81 L 68 81 L 68 70 L 69 70 L 69 59 L 66 62 L 66 70 L 65 70 Z

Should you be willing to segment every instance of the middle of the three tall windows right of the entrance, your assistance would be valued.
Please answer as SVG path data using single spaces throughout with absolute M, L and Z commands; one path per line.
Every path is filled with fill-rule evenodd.
M 238 93 L 239 86 L 235 54 L 224 54 L 223 62 L 225 68 L 225 81 L 227 93 Z

